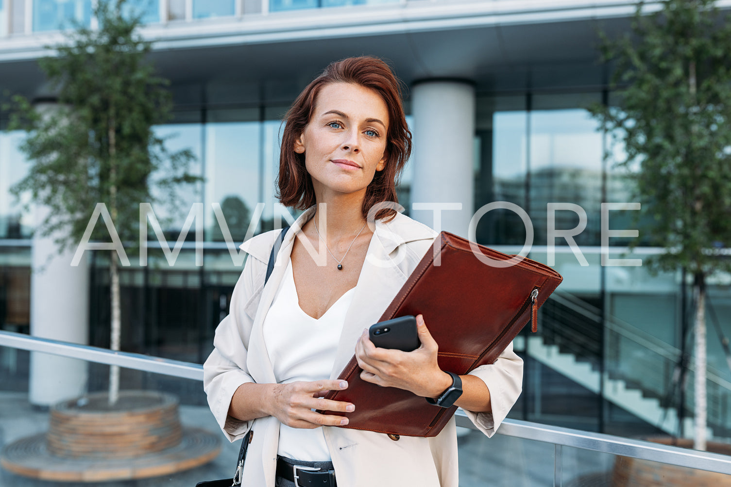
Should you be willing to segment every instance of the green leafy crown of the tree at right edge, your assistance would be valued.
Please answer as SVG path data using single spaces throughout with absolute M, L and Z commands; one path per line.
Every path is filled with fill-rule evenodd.
M 667 0 L 643 15 L 632 35 L 603 36 L 616 63 L 617 107 L 593 107 L 626 147 L 622 166 L 639 162 L 637 198 L 645 225 L 668 253 L 660 269 L 729 269 L 707 251 L 731 246 L 731 23 L 713 0 Z

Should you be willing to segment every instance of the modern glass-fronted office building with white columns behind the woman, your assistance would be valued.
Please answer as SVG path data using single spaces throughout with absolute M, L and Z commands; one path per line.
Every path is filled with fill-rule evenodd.
M 202 202 L 205 248 L 202 266 L 186 245 L 173 266 L 158 249 L 148 266 L 133 260 L 121 270 L 123 350 L 205 360 L 241 269 L 216 207 L 236 242 L 276 226 L 286 212 L 274 193 L 281 115 L 330 61 L 365 53 L 387 59 L 407 88 L 415 150 L 400 188 L 405 211 L 433 226 L 433 210 L 418 204 L 460 203 L 461 210 L 442 212 L 443 228 L 466 236 L 486 204 L 518 205 L 534 231 L 529 257 L 564 276 L 542 307 L 539 333 L 515 342 L 526 373 L 512 417 L 626 435 L 677 432 L 674 372 L 691 312 L 683 275 L 601 265 L 602 228 L 640 231 L 634 255 L 625 255 L 629 239 L 611 238 L 610 258 L 646 262 L 661 251 L 649 245 L 641 218 L 635 223 L 637 210 L 602 212 L 602 204 L 634 201 L 632 175 L 616 169 L 622 147 L 587 110 L 613 102 L 607 66 L 597 62 L 596 28 L 626 30 L 632 2 L 131 3 L 143 13 L 143 34 L 155 41 L 151 59 L 175 99 L 174 120 L 157 130 L 170 136 L 171 149 L 191 149 L 194 172 L 205 177 L 182 195 L 183 211 L 166 232 L 174 241 L 189 208 Z M 73 22 L 94 27 L 90 0 L 0 0 L 0 88 L 48 100 L 35 62 L 44 45 L 61 39 L 56 30 Z M 31 293 L 36 216 L 10 194 L 26 165 L 23 134 L 4 131 L 5 123 L 0 112 L 0 327 L 29 332 L 38 299 Z M 579 226 L 579 207 L 586 226 L 575 251 L 549 236 Z M 498 209 L 480 218 L 475 237 L 518 253 L 526 227 L 517 213 Z M 77 290 L 88 309 L 83 335 L 105 347 L 108 256 L 85 258 Z M 731 427 L 731 372 L 713 330 L 731 333 L 727 283 L 714 277 L 708 290 L 709 423 L 719 437 Z M 686 413 L 692 407 L 686 397 Z

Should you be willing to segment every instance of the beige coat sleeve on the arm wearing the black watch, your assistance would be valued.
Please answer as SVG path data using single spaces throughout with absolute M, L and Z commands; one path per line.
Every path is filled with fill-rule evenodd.
M 490 391 L 492 410 L 488 413 L 467 411 L 467 417 L 485 433 L 493 436 L 523 390 L 523 359 L 512 350 L 512 342 L 494 364 L 482 365 L 469 372 L 482 379 Z

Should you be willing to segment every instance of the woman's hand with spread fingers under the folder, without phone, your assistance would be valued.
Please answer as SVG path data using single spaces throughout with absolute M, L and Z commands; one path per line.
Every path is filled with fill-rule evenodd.
M 292 428 L 313 429 L 319 426 L 344 426 L 348 418 L 338 415 L 315 413 L 313 409 L 352 412 L 350 402 L 332 401 L 322 396 L 327 391 L 341 391 L 348 387 L 345 380 L 298 381 L 288 384 L 272 384 L 268 413 Z

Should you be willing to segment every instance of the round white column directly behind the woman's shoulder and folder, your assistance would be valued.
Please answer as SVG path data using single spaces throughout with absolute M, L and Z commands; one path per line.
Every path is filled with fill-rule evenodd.
M 466 237 L 474 212 L 474 85 L 425 81 L 414 85 L 411 93 L 412 217 L 433 229 Z M 457 204 L 461 210 L 453 209 Z

